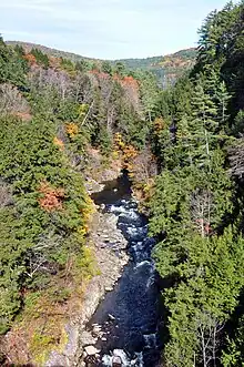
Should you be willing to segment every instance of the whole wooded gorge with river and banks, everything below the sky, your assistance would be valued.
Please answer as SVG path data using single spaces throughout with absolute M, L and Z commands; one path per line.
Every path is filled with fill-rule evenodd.
M 0 38 L 1 366 L 243 366 L 243 1 L 199 33 L 143 70 Z

